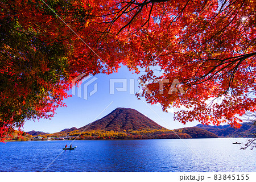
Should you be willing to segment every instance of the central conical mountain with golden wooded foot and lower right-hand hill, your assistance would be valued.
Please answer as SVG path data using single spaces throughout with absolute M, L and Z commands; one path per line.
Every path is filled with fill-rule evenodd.
M 77 130 L 73 127 L 45 136 L 67 135 L 79 136 L 77 139 L 217 138 L 217 135 L 197 127 L 168 130 L 135 109 L 121 107 Z

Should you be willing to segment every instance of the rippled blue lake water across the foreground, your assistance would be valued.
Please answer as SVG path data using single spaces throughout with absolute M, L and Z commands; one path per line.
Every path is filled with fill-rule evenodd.
M 256 150 L 238 141 L 246 139 L 77 140 L 71 151 L 62 150 L 71 140 L 6 142 L 0 171 L 256 171 Z

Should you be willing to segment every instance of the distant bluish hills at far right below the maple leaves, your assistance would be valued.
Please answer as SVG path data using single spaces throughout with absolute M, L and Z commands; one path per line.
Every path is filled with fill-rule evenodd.
M 253 137 L 253 133 L 256 132 L 253 122 L 243 122 L 241 125 L 240 129 L 234 129 L 230 125 L 211 126 L 199 124 L 196 127 L 210 131 L 218 135 L 218 137 Z

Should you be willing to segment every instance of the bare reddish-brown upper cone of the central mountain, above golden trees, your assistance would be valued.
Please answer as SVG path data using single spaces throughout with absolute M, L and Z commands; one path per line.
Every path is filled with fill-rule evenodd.
M 139 113 L 139 111 L 121 107 L 113 110 L 104 118 L 80 127 L 78 130 L 83 131 L 86 127 L 88 127 L 86 130 L 105 131 L 164 129 L 163 126 L 158 125 L 158 123 Z

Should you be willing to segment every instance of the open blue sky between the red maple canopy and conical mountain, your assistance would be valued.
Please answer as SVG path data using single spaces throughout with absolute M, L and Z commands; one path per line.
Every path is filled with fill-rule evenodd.
M 139 91 L 137 81 L 139 76 L 140 75 L 136 73 L 132 74 L 126 67 L 121 67 L 118 73 L 111 75 L 99 74 L 90 77 L 88 80 L 82 82 L 79 87 L 81 89 L 81 98 L 78 97 L 79 91 L 75 88 L 75 95 L 64 100 L 67 107 L 59 107 L 56 110 L 55 117 L 51 119 L 40 119 L 40 121 L 36 122 L 27 121 L 24 124 L 23 130 L 55 133 L 71 127 L 79 128 L 108 115 L 117 107 L 136 109 L 167 129 L 196 126 L 199 123 L 187 123 L 184 126 L 178 121 L 174 121 L 174 109 L 170 109 L 169 113 L 165 113 L 162 111 L 160 104 L 146 104 L 144 98 L 138 100 L 135 93 Z M 127 80 L 127 84 L 125 84 L 125 80 Z M 124 84 L 122 82 L 124 82 Z M 84 89 L 86 88 L 86 84 L 88 85 L 87 100 L 85 99 L 86 94 L 83 94 L 84 91 L 86 91 L 86 89 Z M 125 89 L 126 85 L 127 88 Z M 93 90 L 97 90 L 97 92 L 94 91 L 95 93 L 93 93 Z M 111 93 L 113 91 L 114 94 Z M 71 93 L 72 90 L 69 90 L 69 94 Z

